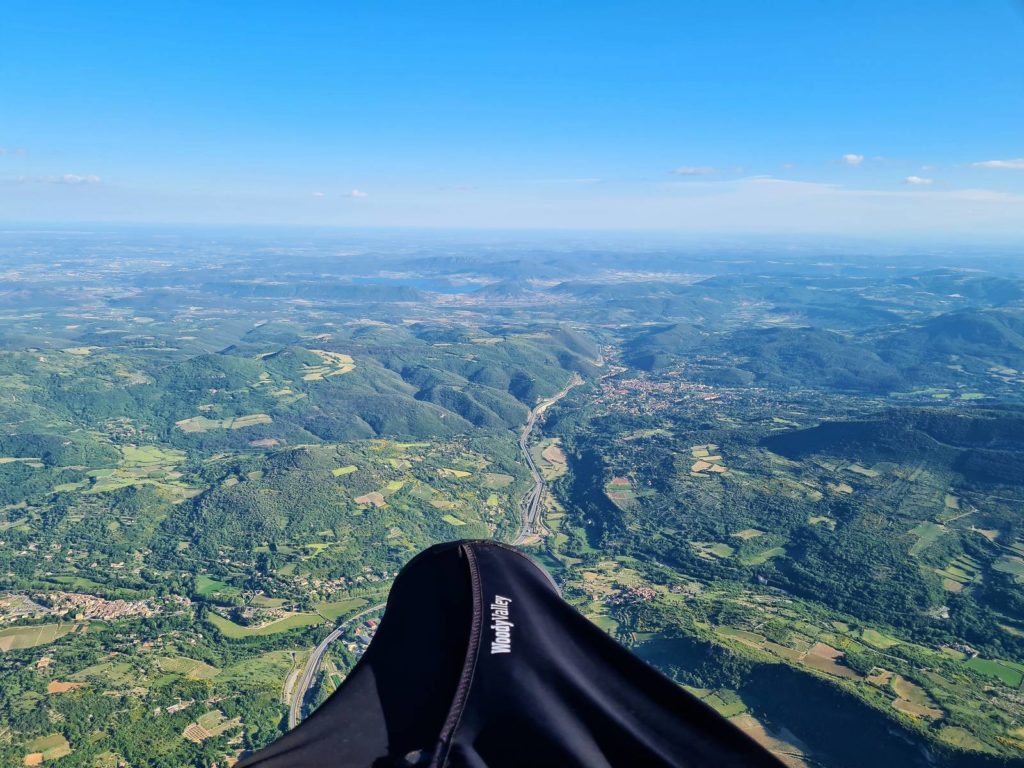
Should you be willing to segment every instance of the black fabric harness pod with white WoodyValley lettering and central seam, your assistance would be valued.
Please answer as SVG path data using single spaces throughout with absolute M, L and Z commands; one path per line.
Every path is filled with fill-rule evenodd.
M 238 768 L 782 764 L 566 604 L 495 542 L 431 547 L 398 574 L 341 687 Z

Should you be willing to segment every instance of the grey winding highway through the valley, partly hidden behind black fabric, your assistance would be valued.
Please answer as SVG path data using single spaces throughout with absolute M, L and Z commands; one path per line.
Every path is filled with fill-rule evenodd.
M 519 502 L 519 532 L 516 535 L 513 544 L 523 544 L 530 537 L 536 535 L 539 523 L 539 513 L 541 511 L 541 502 L 544 499 L 544 475 L 541 474 L 541 470 L 534 461 L 534 457 L 529 454 L 529 436 L 534 431 L 534 427 L 537 426 L 537 420 L 544 415 L 544 412 L 568 394 L 572 387 L 579 386 L 580 384 L 583 384 L 583 379 L 580 378 L 579 374 L 572 374 L 572 379 L 560 392 L 537 403 L 537 406 L 529 412 L 529 418 L 526 420 L 526 424 L 523 426 L 522 432 L 519 434 L 519 450 L 522 452 L 523 459 L 526 461 L 526 466 L 529 468 L 529 474 L 534 478 L 534 487 L 531 487 Z M 309 686 L 313 684 L 313 678 L 316 677 L 316 671 L 319 669 L 321 662 L 324 659 L 324 654 L 327 652 L 331 643 L 344 635 L 345 630 L 348 629 L 348 627 L 350 627 L 353 623 L 358 622 L 370 613 L 380 611 L 384 608 L 384 605 L 385 603 L 372 605 L 369 608 L 365 608 L 358 613 L 349 616 L 344 622 L 339 624 L 334 631 L 325 637 L 321 641 L 321 644 L 313 649 L 309 659 L 306 662 L 305 669 L 302 671 L 302 676 L 299 678 L 296 688 L 292 693 L 292 701 L 288 710 L 289 730 L 296 727 L 302 720 L 302 705 L 306 699 L 306 694 L 309 692 Z

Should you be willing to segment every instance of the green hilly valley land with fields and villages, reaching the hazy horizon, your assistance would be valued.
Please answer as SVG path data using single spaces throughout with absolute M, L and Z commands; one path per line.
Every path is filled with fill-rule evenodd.
M 1024 756 L 1009 257 L 0 245 L 4 765 L 258 749 L 463 538 L 792 765 Z

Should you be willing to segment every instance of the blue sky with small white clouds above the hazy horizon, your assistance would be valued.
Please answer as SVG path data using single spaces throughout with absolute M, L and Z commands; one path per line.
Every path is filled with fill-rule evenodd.
M 1024 5 L 9 0 L 0 220 L 1024 234 Z

